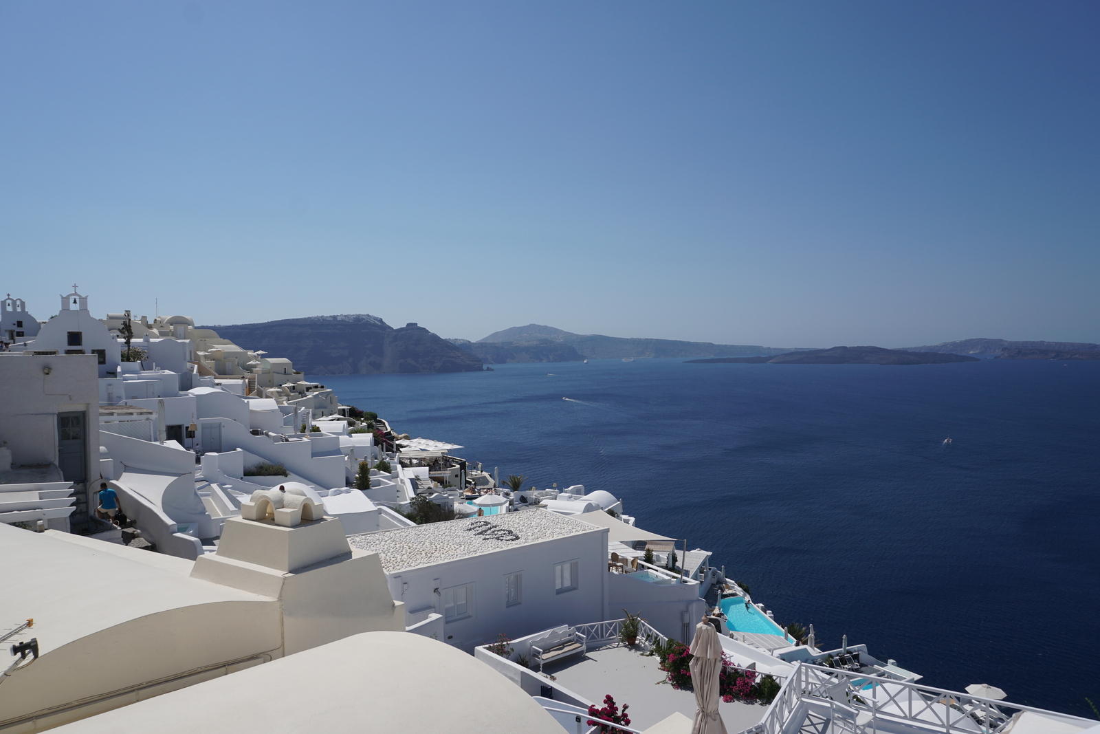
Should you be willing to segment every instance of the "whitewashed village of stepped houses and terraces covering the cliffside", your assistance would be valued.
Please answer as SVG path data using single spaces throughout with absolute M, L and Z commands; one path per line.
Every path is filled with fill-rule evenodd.
M 186 316 L 0 305 L 0 733 L 1100 732 L 823 649 L 736 558 Z

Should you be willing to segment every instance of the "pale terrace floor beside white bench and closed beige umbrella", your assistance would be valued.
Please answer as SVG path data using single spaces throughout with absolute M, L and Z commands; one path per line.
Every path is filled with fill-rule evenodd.
M 619 706 L 629 703 L 627 714 L 631 728 L 648 728 L 673 711 L 692 719 L 695 715 L 695 694 L 678 691 L 662 682 L 664 673 L 659 665 L 657 656 L 646 657 L 616 644 L 547 665 L 543 671 L 554 676 L 556 682 L 563 688 L 595 702 L 597 706 L 603 705 L 608 693 Z M 726 731 L 734 734 L 760 723 L 767 706 L 721 703 L 718 711 L 726 723 Z

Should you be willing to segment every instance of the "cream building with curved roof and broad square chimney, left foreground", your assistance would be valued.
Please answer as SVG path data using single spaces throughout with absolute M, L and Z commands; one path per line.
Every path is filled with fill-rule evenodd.
M 377 556 L 350 548 L 329 517 L 293 528 L 232 519 L 218 552 L 196 562 L 0 524 L 0 558 L 3 629 L 34 620 L 4 643 L 36 644 L 0 680 L 2 731 L 41 731 L 359 633 L 404 628 Z M 317 710 L 316 700 L 295 702 Z

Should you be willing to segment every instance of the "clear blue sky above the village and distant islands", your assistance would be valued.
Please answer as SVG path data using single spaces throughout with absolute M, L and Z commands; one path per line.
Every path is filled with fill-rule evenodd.
M 1100 6 L 0 3 L 0 291 L 1100 341 Z

